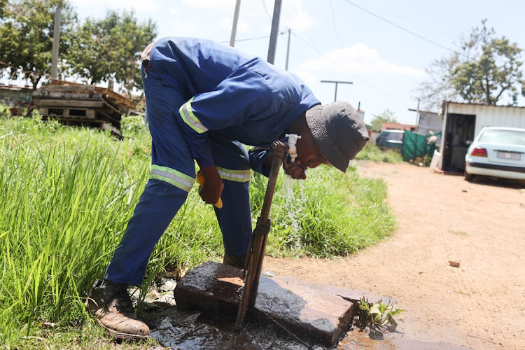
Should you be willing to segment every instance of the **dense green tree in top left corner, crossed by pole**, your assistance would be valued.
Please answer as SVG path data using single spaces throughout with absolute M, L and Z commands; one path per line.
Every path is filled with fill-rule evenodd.
M 0 64 L 12 78 L 22 77 L 36 89 L 50 74 L 55 10 L 62 4 L 59 52 L 69 48 L 76 13 L 63 0 L 0 1 Z

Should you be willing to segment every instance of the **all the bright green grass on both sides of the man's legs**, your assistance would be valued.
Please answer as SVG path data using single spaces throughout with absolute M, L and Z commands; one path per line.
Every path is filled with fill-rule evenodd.
M 111 344 L 99 339 L 103 333 L 83 302 L 147 181 L 148 133 L 137 125 L 124 130 L 127 138 L 118 141 L 39 116 L 0 119 L 0 348 Z M 254 219 L 266 182 L 252 176 Z M 289 188 L 288 201 L 286 186 L 281 177 L 270 214 L 271 255 L 349 255 L 395 227 L 384 204 L 386 183 L 361 179 L 353 168 L 344 175 L 327 167 L 309 171 L 303 190 L 297 182 Z M 193 190 L 151 255 L 143 292 L 166 269 L 191 269 L 222 253 L 214 211 Z

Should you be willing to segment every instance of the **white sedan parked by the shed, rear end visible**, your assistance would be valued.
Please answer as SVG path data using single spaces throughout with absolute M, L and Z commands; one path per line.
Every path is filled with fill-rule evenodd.
M 525 180 L 525 129 L 484 127 L 465 155 L 465 180 L 472 175 Z

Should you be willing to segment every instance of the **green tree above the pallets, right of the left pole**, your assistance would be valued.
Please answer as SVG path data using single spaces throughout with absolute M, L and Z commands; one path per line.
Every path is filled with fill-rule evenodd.
M 134 13 L 109 10 L 87 18 L 73 38 L 67 61 L 71 72 L 95 84 L 113 78 L 125 90 L 141 87 L 140 53 L 157 36 L 155 22 L 137 22 Z

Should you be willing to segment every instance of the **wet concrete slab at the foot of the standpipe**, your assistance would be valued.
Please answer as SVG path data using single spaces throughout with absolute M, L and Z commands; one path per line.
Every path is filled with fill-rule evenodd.
M 242 295 L 242 270 L 208 261 L 195 267 L 174 289 L 177 308 L 230 315 Z M 333 346 L 349 329 L 353 302 L 297 280 L 261 276 L 255 308 L 303 339 Z

